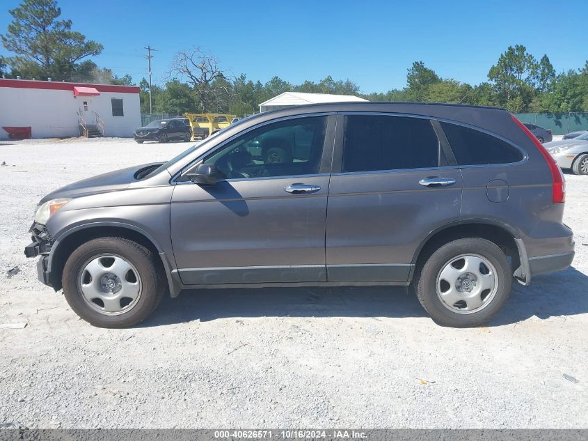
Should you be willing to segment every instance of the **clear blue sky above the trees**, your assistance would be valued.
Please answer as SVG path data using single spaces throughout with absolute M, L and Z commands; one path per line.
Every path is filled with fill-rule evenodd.
M 0 33 L 18 0 L 2 0 Z M 164 82 L 173 54 L 198 45 L 233 75 L 266 82 L 273 75 L 299 84 L 351 79 L 364 92 L 406 84 L 406 69 L 422 60 L 441 77 L 477 84 L 509 45 L 557 72 L 588 59 L 588 1 L 152 1 L 58 0 L 73 29 L 104 45 L 94 61 L 117 75 Z M 0 48 L 0 54 L 8 55 Z

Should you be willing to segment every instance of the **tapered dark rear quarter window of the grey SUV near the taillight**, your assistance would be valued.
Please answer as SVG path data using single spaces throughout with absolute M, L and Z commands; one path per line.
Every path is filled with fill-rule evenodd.
M 511 164 L 522 161 L 521 150 L 491 134 L 452 123 L 440 123 L 459 165 Z

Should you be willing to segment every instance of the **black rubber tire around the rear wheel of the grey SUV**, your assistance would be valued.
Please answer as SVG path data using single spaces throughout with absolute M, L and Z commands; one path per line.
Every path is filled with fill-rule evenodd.
M 486 259 L 495 269 L 496 290 L 485 306 L 470 314 L 460 314 L 446 307 L 437 293 L 440 272 L 453 258 L 473 254 Z M 422 265 L 416 275 L 416 293 L 422 307 L 438 324 L 451 327 L 475 327 L 490 320 L 507 301 L 512 288 L 511 265 L 502 249 L 489 240 L 464 238 L 448 242 L 438 248 Z M 482 292 L 483 293 L 483 292 Z M 459 302 L 457 303 L 459 304 Z

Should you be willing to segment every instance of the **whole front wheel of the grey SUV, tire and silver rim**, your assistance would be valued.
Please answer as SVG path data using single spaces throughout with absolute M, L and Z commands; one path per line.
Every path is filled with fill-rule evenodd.
M 128 327 L 147 318 L 165 284 L 149 249 L 124 238 L 80 245 L 63 268 L 63 294 L 74 312 L 97 327 Z

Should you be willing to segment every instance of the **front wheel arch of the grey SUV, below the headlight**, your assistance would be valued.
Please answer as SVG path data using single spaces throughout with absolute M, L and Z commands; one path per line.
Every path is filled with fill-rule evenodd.
M 165 274 L 170 295 L 177 297 L 180 293 L 180 284 L 173 279 L 172 263 L 168 260 L 166 252 L 157 243 L 157 240 L 137 226 L 118 222 L 93 222 L 91 224 L 79 225 L 59 236 L 53 247 L 51 247 L 47 263 L 49 281 L 56 291 L 62 288 L 61 278 L 63 276 L 65 261 L 67 261 L 67 258 L 72 254 L 74 249 L 88 242 L 88 240 L 104 237 L 119 237 L 133 240 L 149 249 L 154 255 L 159 256 L 159 258 L 155 259 L 155 262 L 159 270 Z

